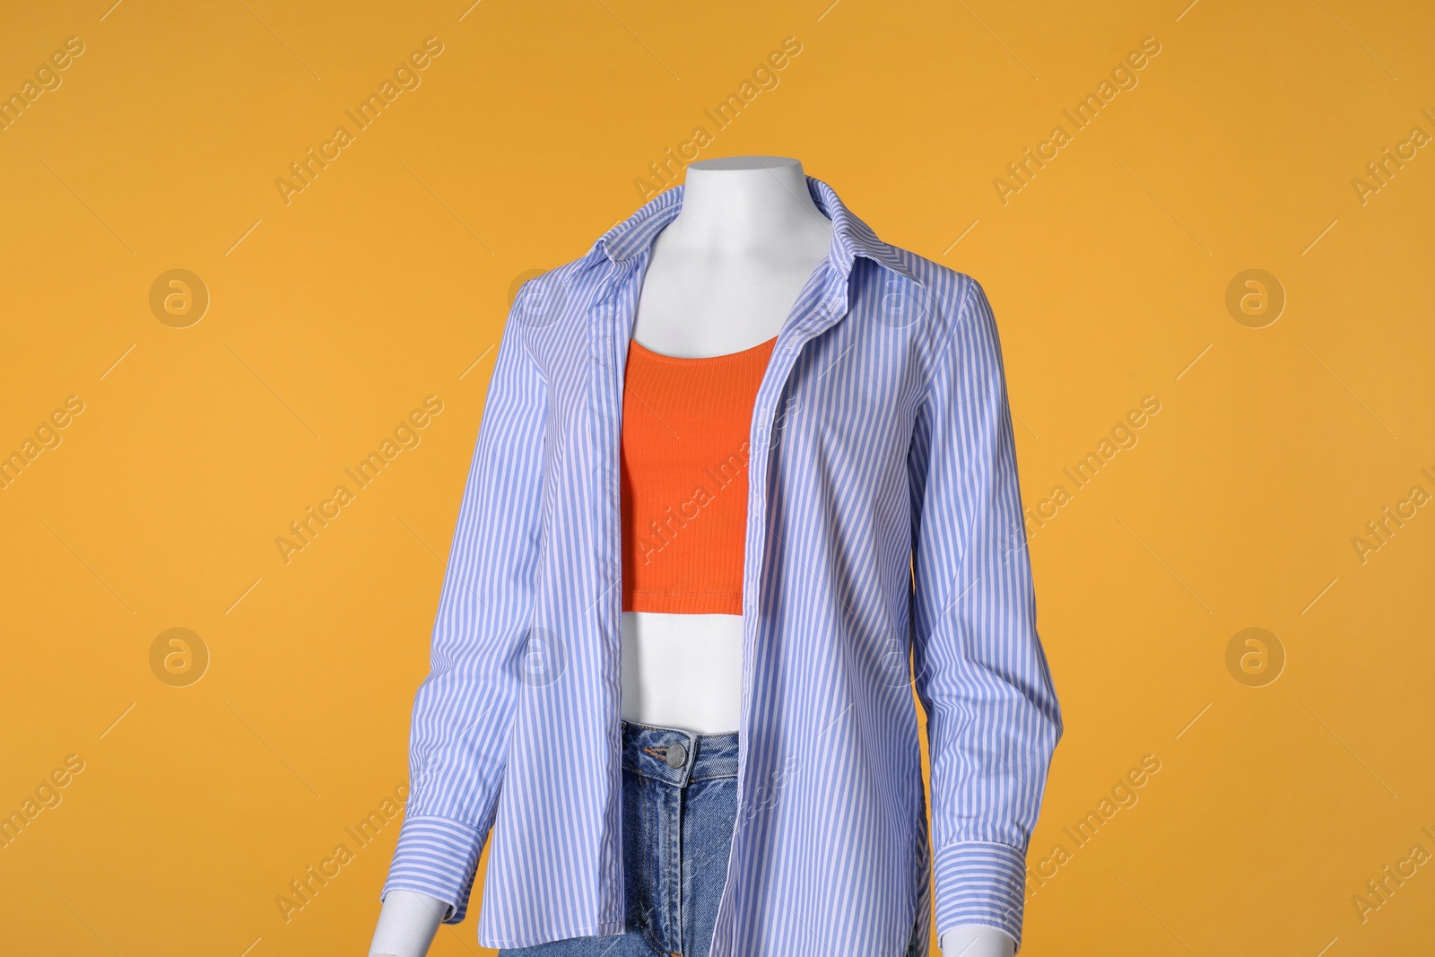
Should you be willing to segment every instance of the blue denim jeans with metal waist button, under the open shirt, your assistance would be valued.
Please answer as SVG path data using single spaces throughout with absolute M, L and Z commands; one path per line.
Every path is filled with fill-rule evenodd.
M 707 957 L 738 819 L 738 732 L 623 722 L 627 931 L 499 957 Z

